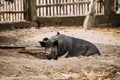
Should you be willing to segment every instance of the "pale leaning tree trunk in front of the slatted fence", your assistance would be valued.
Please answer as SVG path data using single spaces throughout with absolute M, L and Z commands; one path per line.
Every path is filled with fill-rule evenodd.
M 83 29 L 87 30 L 93 27 L 94 20 L 95 20 L 95 0 L 91 0 L 88 15 L 86 16 L 84 23 L 83 23 Z

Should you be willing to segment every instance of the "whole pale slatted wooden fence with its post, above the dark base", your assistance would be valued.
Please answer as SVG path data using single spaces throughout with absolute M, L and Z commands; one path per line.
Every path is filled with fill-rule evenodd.
M 35 16 L 84 16 L 87 15 L 90 6 L 90 0 L 14 0 L 13 3 L 0 0 L 0 2 L 2 4 L 0 23 L 31 21 Z M 96 14 L 103 14 L 103 9 L 101 2 L 96 2 Z

